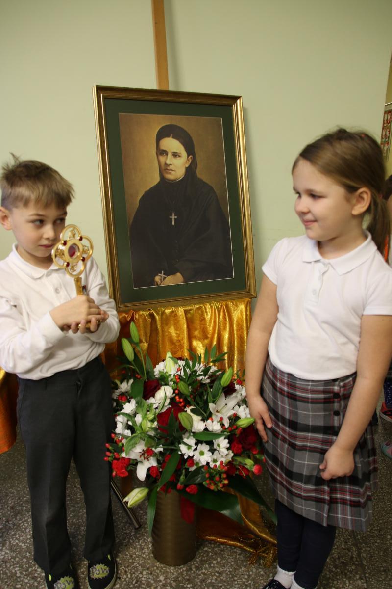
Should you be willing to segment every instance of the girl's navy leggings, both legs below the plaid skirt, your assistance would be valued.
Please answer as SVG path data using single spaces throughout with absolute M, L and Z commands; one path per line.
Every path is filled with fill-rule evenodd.
M 296 514 L 278 499 L 275 512 L 279 567 L 287 572 L 296 571 L 296 582 L 304 589 L 314 589 L 332 550 L 336 527 Z

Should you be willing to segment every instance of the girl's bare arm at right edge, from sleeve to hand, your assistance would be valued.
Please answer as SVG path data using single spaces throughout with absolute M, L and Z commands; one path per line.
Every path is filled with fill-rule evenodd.
M 357 379 L 339 435 L 320 465 L 324 479 L 353 472 L 353 452 L 376 409 L 391 358 L 392 316 L 363 315 Z

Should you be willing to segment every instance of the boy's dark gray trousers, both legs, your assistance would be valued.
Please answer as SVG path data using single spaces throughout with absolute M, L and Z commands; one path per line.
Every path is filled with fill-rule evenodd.
M 19 379 L 18 422 L 26 446 L 34 560 L 59 574 L 71 560 L 66 479 L 75 461 L 86 505 L 85 558 L 112 550 L 110 463 L 105 444 L 114 428 L 110 377 L 100 358 L 41 380 Z

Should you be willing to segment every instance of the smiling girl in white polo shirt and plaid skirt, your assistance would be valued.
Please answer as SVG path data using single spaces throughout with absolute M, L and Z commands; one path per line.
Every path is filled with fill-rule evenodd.
M 313 589 L 336 526 L 370 524 L 370 419 L 392 355 L 379 145 L 338 129 L 307 145 L 292 174 L 306 235 L 279 241 L 264 264 L 246 352 L 278 520 L 277 574 L 263 589 Z

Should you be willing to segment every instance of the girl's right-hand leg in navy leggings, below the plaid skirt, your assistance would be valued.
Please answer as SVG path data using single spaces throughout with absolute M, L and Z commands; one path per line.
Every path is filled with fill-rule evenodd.
M 332 550 L 336 535 L 333 525 L 304 518 L 301 552 L 292 589 L 315 589 Z

